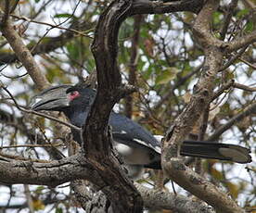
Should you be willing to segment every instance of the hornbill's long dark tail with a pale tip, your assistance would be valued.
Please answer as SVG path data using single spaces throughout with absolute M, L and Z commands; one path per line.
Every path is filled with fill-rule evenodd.
M 250 149 L 235 144 L 185 141 L 181 146 L 181 156 L 231 160 L 250 163 Z

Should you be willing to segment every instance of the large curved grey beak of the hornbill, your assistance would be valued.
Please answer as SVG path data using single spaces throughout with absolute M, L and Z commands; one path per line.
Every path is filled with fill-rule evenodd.
M 66 91 L 71 85 L 64 84 L 50 87 L 40 94 L 32 97 L 30 107 L 35 111 L 52 110 L 62 111 L 63 108 L 69 107 L 70 101 Z

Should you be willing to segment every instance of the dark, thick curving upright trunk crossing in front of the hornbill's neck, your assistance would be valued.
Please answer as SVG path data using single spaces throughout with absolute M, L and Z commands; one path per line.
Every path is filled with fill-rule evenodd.
M 119 99 L 132 90 L 121 87 L 117 66 L 117 39 L 120 25 L 130 11 L 131 0 L 113 1 L 101 14 L 92 45 L 96 59 L 98 89 L 83 130 L 83 150 L 96 163 L 96 170 L 106 183 L 102 192 L 107 195 L 113 212 L 141 212 L 140 194 L 124 175 L 119 162 L 111 155 L 108 130 L 109 114 Z

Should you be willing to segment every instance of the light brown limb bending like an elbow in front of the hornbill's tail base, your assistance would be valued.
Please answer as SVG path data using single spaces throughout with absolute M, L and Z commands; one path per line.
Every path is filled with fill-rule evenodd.
M 167 175 L 187 191 L 206 201 L 212 207 L 225 213 L 243 212 L 237 207 L 235 201 L 221 192 L 211 182 L 201 178 L 193 170 L 186 168 L 184 163 L 177 158 L 179 143 L 183 142 L 186 135 L 192 130 L 199 119 L 201 112 L 211 102 L 214 81 L 218 70 L 222 67 L 223 52 L 218 47 L 218 42 L 211 35 L 211 17 L 218 4 L 215 0 L 208 0 L 198 14 L 194 30 L 198 41 L 205 46 L 205 64 L 202 75 L 194 87 L 194 94 L 186 109 L 175 120 L 173 128 L 169 131 L 163 143 L 162 167 Z

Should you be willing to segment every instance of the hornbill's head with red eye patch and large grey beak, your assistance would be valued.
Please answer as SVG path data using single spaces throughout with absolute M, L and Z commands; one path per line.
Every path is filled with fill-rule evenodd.
M 32 97 L 33 110 L 66 111 L 72 108 L 84 109 L 93 102 L 96 91 L 88 84 L 60 85 L 46 89 Z

